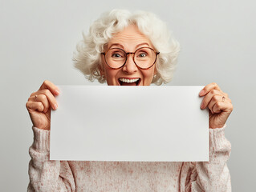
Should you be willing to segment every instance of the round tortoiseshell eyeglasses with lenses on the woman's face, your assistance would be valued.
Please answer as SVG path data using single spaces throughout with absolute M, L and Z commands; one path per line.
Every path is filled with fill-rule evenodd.
M 111 48 L 101 54 L 104 54 L 105 62 L 112 69 L 123 67 L 127 61 L 128 54 L 132 54 L 132 59 L 136 66 L 140 69 L 147 70 L 155 64 L 157 55 L 160 52 L 156 52 L 150 47 L 140 47 L 134 53 L 126 53 L 120 48 Z

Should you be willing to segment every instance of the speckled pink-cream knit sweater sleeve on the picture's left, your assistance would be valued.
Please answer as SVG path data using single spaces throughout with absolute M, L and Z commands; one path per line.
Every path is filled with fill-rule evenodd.
M 27 191 L 75 191 L 68 162 L 50 161 L 50 130 L 32 127 L 34 142 L 30 146 L 30 183 Z

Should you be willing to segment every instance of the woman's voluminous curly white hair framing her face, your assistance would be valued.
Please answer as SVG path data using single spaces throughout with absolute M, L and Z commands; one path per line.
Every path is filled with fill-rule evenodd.
M 73 56 L 75 68 L 91 82 L 95 79 L 100 83 L 106 82 L 100 75 L 100 54 L 104 52 L 104 47 L 108 45 L 113 34 L 131 24 L 135 24 L 149 38 L 156 51 L 160 52 L 156 60 L 157 73 L 152 83 L 161 85 L 163 82 L 170 82 L 176 69 L 180 44 L 173 38 L 165 22 L 146 11 L 132 14 L 128 10 L 112 10 L 102 14 L 92 23 L 89 34 L 83 33 L 83 40 L 78 42 Z

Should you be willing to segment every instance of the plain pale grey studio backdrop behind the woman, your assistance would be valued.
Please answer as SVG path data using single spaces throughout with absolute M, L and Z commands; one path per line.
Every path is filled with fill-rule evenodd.
M 104 11 L 148 10 L 167 22 L 181 43 L 173 81 L 165 86 L 217 82 L 234 111 L 226 138 L 233 191 L 255 182 L 255 2 L 251 1 L 0 1 L 1 191 L 26 191 L 33 141 L 26 101 L 45 79 L 59 85 L 88 82 L 72 66 L 76 43 Z M 198 106 L 199 107 L 199 106 Z

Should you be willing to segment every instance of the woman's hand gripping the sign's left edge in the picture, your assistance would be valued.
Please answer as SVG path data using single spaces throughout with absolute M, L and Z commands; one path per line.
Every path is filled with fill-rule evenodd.
M 58 104 L 55 95 L 59 94 L 59 88 L 50 81 L 44 81 L 39 90 L 30 94 L 26 102 L 26 109 L 30 114 L 33 126 L 50 130 L 51 126 L 51 108 L 56 110 Z

